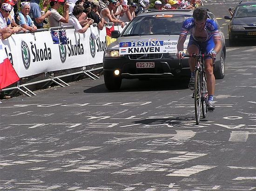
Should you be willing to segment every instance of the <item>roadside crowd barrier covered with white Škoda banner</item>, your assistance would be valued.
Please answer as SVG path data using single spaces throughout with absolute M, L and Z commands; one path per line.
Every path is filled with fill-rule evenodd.
M 107 47 L 106 27 L 112 25 L 106 24 L 101 31 L 96 28 L 99 33 L 97 39 L 91 37 L 89 29 L 81 34 L 75 32 L 73 26 L 60 26 L 38 29 L 36 32 L 19 32 L 2 40 L 3 48 L 22 82 L 0 89 L 0 92 L 18 90 L 27 96 L 35 96 L 27 86 L 50 82 L 65 87 L 68 83 L 61 78 L 79 74 L 92 79 L 99 78 L 92 71 L 103 69 L 103 54 Z M 97 24 L 91 27 L 97 27 Z M 120 25 L 114 27 L 115 30 L 123 30 Z M 51 34 L 53 31 L 56 35 L 63 35 L 61 32 L 64 32 L 67 44 L 56 44 Z M 98 67 L 93 68 L 94 65 Z M 90 69 L 87 70 L 87 67 Z M 62 71 L 68 72 L 59 75 Z

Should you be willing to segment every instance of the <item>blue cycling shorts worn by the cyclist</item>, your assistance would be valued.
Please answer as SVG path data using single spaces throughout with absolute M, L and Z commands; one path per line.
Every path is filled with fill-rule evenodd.
M 201 54 L 209 54 L 210 51 L 212 51 L 214 49 L 215 43 L 213 38 L 209 38 L 207 41 L 201 42 L 201 41 L 196 41 L 192 35 L 190 35 L 189 38 L 189 45 L 196 45 L 199 49 L 199 51 L 202 50 Z M 207 56 L 205 57 L 205 59 L 212 59 L 212 57 Z

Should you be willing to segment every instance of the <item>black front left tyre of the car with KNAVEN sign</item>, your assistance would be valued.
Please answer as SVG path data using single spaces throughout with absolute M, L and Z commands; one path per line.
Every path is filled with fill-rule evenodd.
M 117 90 L 121 87 L 122 78 L 114 76 L 113 71 L 104 71 L 104 82 L 107 89 Z

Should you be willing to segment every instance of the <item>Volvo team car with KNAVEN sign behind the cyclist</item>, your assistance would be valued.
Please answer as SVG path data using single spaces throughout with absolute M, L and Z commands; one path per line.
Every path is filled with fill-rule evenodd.
M 106 88 L 120 89 L 123 78 L 189 77 L 188 59 L 184 58 L 181 65 L 176 57 L 176 47 L 183 21 L 192 15 L 193 10 L 144 12 L 130 21 L 121 34 L 112 31 L 111 37 L 117 40 L 108 45 L 103 57 Z M 208 16 L 217 22 L 213 13 L 208 11 Z M 217 79 L 225 76 L 225 37 L 220 33 L 222 49 L 214 65 Z M 188 43 L 189 37 L 184 43 L 185 52 Z

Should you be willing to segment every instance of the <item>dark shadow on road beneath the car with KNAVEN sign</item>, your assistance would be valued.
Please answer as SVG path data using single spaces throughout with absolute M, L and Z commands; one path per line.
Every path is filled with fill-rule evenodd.
M 85 89 L 84 93 L 110 93 L 110 92 L 133 92 L 133 91 L 164 91 L 188 89 L 189 78 L 164 78 L 164 79 L 123 79 L 119 90 L 110 91 L 104 84 Z

